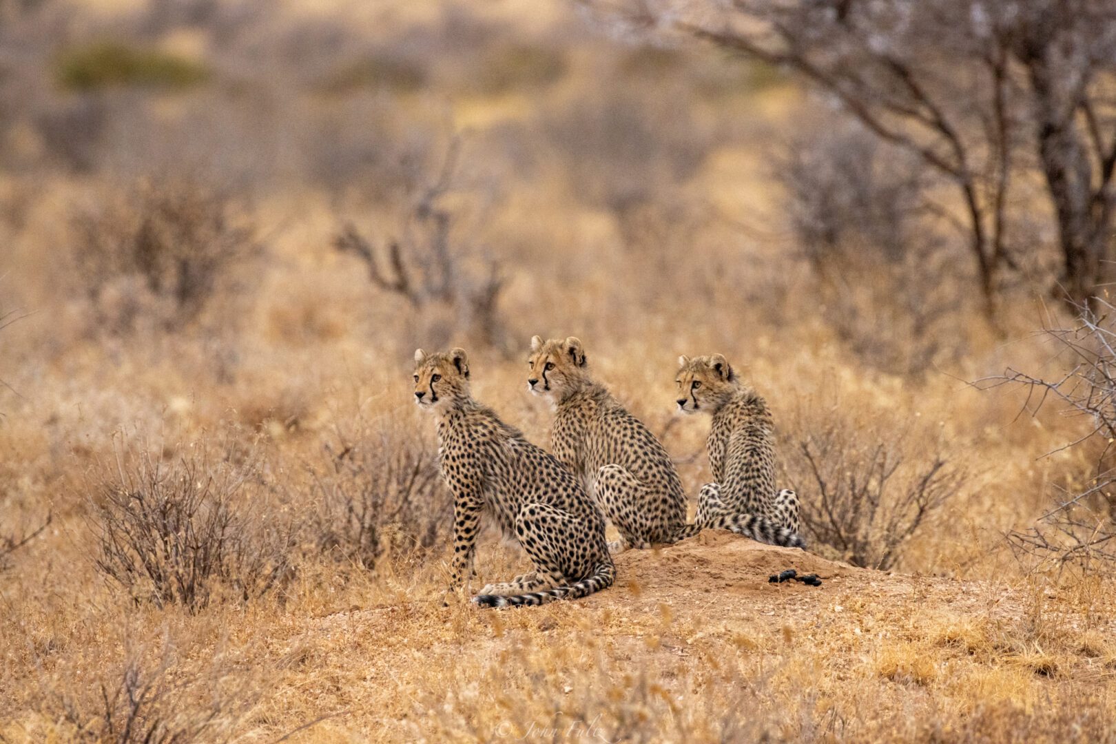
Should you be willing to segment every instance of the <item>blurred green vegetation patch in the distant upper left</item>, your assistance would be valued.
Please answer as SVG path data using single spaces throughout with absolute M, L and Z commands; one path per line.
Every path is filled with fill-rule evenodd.
M 158 49 L 143 49 L 103 41 L 65 51 L 55 77 L 67 90 L 112 87 L 183 89 L 204 83 L 208 67 Z

